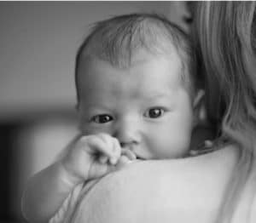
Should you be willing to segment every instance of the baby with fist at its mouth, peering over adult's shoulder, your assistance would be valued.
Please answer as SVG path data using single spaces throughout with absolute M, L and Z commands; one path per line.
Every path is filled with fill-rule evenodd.
M 195 66 L 188 37 L 158 15 L 97 23 L 76 60 L 81 136 L 29 181 L 26 219 L 49 221 L 76 186 L 132 161 L 189 156 L 203 95 Z

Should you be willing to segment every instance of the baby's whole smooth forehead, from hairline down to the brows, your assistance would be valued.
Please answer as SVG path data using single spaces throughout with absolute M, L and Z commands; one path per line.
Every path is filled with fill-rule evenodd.
M 182 63 L 177 56 L 137 54 L 132 61 L 131 67 L 120 68 L 105 60 L 85 60 L 78 83 L 83 103 L 170 99 L 178 89 L 183 89 Z

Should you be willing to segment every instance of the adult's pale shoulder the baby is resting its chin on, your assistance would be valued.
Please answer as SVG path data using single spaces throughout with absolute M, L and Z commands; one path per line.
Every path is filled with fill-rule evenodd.
M 132 163 L 86 194 L 74 222 L 214 222 L 237 156 L 228 146 L 200 157 Z

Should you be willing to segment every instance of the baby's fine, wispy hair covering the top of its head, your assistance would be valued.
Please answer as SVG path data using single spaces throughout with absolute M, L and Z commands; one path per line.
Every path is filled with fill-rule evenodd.
M 196 73 L 196 59 L 189 36 L 158 14 L 125 14 L 97 22 L 81 44 L 75 71 L 78 101 L 78 67 L 82 59 L 96 58 L 125 68 L 131 66 L 132 56 L 139 49 L 156 56 L 175 50 L 182 62 L 182 82 L 189 93 L 194 94 L 195 77 L 192 76 Z

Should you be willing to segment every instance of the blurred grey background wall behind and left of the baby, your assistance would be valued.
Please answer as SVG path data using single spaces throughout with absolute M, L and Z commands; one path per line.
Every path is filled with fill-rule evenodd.
M 22 222 L 20 194 L 77 134 L 76 50 L 117 14 L 165 14 L 186 29 L 183 2 L 0 2 L 0 221 Z

